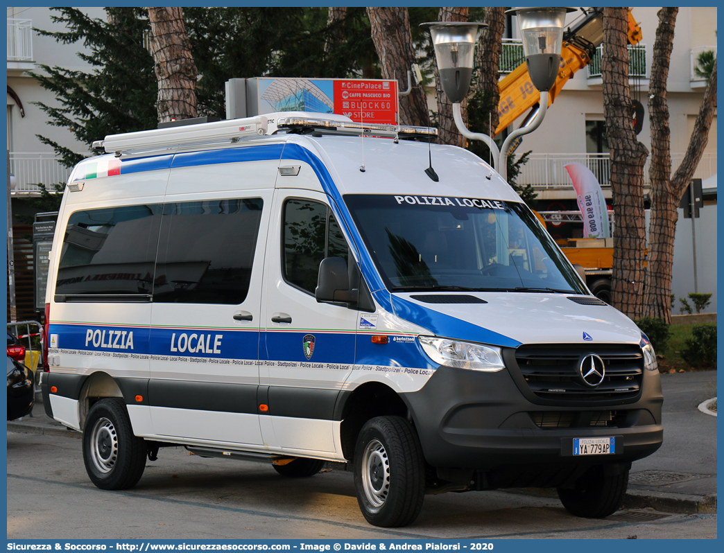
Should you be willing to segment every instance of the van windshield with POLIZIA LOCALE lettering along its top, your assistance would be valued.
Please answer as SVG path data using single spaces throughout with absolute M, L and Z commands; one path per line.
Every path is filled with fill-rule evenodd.
M 587 293 L 524 203 L 361 194 L 344 200 L 393 292 Z

